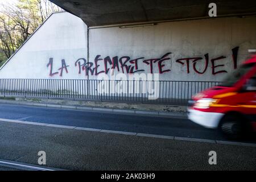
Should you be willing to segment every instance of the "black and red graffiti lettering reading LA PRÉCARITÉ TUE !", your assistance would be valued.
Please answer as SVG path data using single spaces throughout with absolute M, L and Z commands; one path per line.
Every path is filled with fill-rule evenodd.
M 232 49 L 232 64 L 233 68 L 237 68 L 237 55 L 238 55 L 239 47 L 234 47 Z M 131 59 L 129 56 L 106 56 L 102 57 L 101 55 L 97 55 L 94 61 L 87 61 L 85 58 L 79 58 L 75 61 L 74 65 L 79 74 L 84 73 L 86 76 L 88 75 L 100 75 L 101 73 L 108 74 L 111 69 L 121 73 L 137 73 L 144 72 L 144 66 L 148 67 L 150 73 L 153 73 L 154 68 L 157 67 L 157 72 L 159 74 L 171 72 L 171 69 L 166 67 L 167 61 L 171 61 L 170 55 L 172 52 L 167 52 L 163 56 L 153 59 L 145 59 L 144 57 L 138 57 L 136 59 Z M 219 73 L 226 73 L 227 71 L 224 69 L 225 64 L 223 63 L 223 59 L 226 56 L 218 56 L 210 58 L 209 53 L 206 53 L 204 56 L 200 57 L 183 57 L 181 59 L 177 59 L 174 61 L 175 64 L 180 64 L 181 66 L 185 66 L 187 73 L 191 73 L 191 70 L 200 75 L 204 74 L 207 69 L 211 69 L 212 75 L 217 75 Z M 203 61 L 203 63 L 201 61 Z M 197 64 L 203 64 L 203 70 L 199 70 L 197 68 Z M 142 64 L 139 64 L 142 63 Z M 191 68 L 192 63 L 192 68 Z M 102 66 L 103 65 L 103 66 Z M 141 65 L 141 68 L 139 67 Z M 209 67 L 210 65 L 210 67 Z M 53 71 L 53 58 L 49 58 L 49 62 L 47 64 L 49 68 L 49 76 L 63 76 L 63 73 L 68 73 L 69 65 L 66 64 L 65 59 L 61 60 L 61 67 L 57 68 Z

